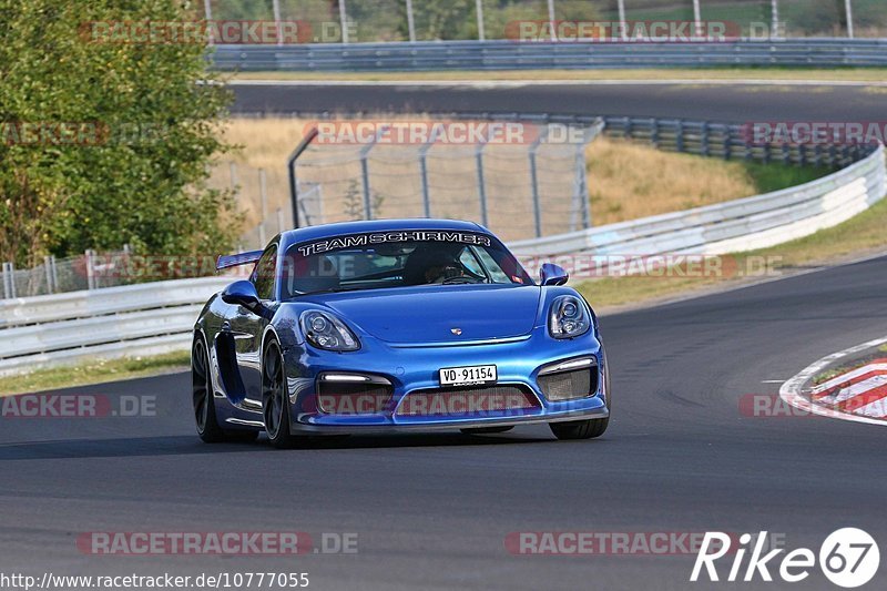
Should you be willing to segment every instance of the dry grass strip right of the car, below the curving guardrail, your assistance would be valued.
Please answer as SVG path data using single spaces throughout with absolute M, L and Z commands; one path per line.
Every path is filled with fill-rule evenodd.
M 585 281 L 575 287 L 595 307 L 613 307 L 662 300 L 761 278 L 759 265 L 766 262 L 767 276 L 804 267 L 826 265 L 850 256 L 879 253 L 887 248 L 887 198 L 834 227 L 785 244 L 726 255 L 726 273 L 706 276 L 632 275 Z

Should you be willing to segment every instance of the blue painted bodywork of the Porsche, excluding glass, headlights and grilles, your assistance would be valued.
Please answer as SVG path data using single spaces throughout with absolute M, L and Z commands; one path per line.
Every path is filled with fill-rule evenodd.
M 277 276 L 284 254 L 294 244 L 348 234 L 421 230 L 483 234 L 501 246 L 486 228 L 470 222 L 385 220 L 313 226 L 285 232 L 272 241 L 278 245 Z M 572 295 L 582 299 L 570 287 L 427 285 L 307 294 L 281 302 L 281 282 L 277 283 L 274 299 L 266 303 L 264 318 L 242 306 L 226 304 L 216 295 L 195 325 L 197 334 L 211 344 L 216 415 L 225 428 L 262 428 L 261 359 L 269 338 L 278 340 L 284 354 L 292 432 L 459 428 L 609 416 L 606 359 L 591 307 L 593 327 L 584 335 L 555 339 L 548 332 L 548 312 L 555 297 Z M 358 337 L 360 349 L 335 353 L 309 345 L 302 335 L 298 318 L 312 309 L 336 314 Z M 230 329 L 221 330 L 222 326 Z M 461 328 L 461 335 L 453 335 L 452 327 Z M 220 355 L 220 339 L 223 345 L 235 343 L 236 367 L 220 365 L 231 363 L 230 355 Z M 597 391 L 585 398 L 548 401 L 537 384 L 539 370 L 550 364 L 584 357 L 595 360 Z M 496 365 L 498 383 L 526 386 L 539 399 L 538 408 L 489 411 L 481 418 L 412 417 L 391 411 L 407 393 L 439 387 L 440 368 L 471 365 Z M 377 415 L 316 411 L 310 400 L 316 378 L 324 371 L 360 373 L 388 379 L 394 386 L 392 407 Z M 241 384 L 242 391 L 228 391 L 228 384 Z

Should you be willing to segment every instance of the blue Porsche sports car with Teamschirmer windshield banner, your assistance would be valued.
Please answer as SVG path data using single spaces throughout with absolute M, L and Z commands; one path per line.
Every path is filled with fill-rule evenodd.
M 204 441 L 547 422 L 598 437 L 610 378 L 598 320 L 555 265 L 539 283 L 482 226 L 385 220 L 284 232 L 194 326 Z

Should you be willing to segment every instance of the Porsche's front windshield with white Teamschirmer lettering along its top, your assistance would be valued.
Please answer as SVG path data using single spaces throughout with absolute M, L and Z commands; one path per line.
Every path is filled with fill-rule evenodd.
M 418 285 L 532 285 L 498 241 L 462 232 L 334 236 L 290 246 L 283 296 Z

